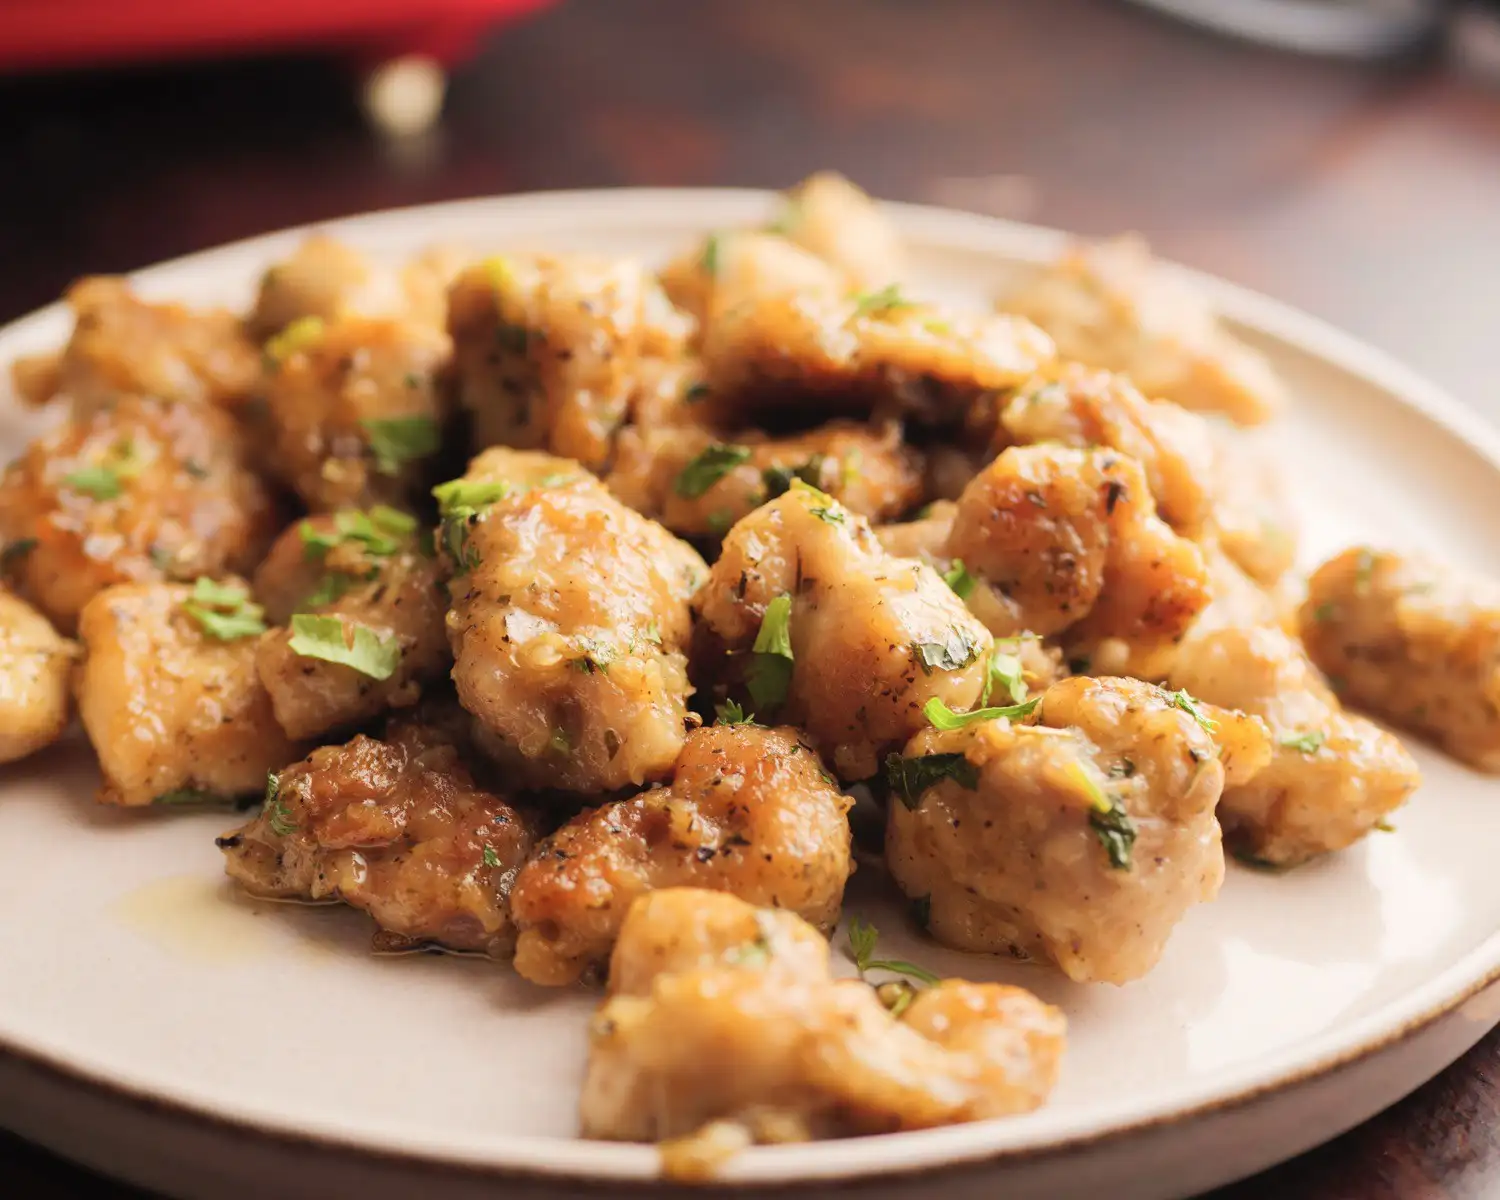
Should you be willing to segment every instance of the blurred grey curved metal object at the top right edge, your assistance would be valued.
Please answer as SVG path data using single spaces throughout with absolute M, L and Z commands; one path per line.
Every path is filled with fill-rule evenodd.
M 1443 0 L 1136 0 L 1204 28 L 1304 54 L 1384 58 L 1438 28 Z

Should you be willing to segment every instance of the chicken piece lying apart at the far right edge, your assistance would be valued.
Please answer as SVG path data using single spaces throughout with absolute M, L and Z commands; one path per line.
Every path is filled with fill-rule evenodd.
M 1341 700 L 1500 771 L 1500 585 L 1352 549 L 1314 572 L 1299 618 Z

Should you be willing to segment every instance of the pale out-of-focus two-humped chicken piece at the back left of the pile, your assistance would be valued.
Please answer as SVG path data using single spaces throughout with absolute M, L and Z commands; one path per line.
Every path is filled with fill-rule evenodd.
M 294 321 L 345 316 L 417 321 L 442 328 L 447 286 L 462 254 L 434 246 L 394 270 L 327 234 L 312 234 L 261 276 L 250 328 L 272 338 Z

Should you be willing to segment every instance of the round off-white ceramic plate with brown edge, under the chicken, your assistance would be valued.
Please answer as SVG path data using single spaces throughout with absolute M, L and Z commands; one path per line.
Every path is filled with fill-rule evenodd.
M 400 258 L 442 240 L 664 258 L 696 231 L 759 222 L 752 192 L 579 192 L 336 222 Z M 1059 236 L 892 206 L 912 290 L 984 303 Z M 153 296 L 244 303 L 300 232 L 140 274 Z M 1500 574 L 1500 438 L 1380 354 L 1269 300 L 1203 280 L 1298 396 L 1266 430 L 1306 520 L 1306 555 L 1372 538 Z M 64 314 L 0 332 L 0 360 L 60 342 Z M 0 438 L 16 441 L 12 406 Z M 1419 750 L 1426 783 L 1394 836 L 1284 876 L 1232 867 L 1152 975 L 1078 987 L 1040 968 L 909 939 L 866 872 L 850 910 L 882 948 L 1022 982 L 1070 1020 L 1064 1077 L 1004 1122 L 756 1149 L 728 1180 L 860 1180 L 914 1194 L 1185 1196 L 1370 1116 L 1497 1018 L 1500 796 Z M 375 958 L 344 909 L 246 902 L 222 882 L 228 818 L 90 800 L 72 742 L 0 774 L 0 1120 L 178 1196 L 590 1191 L 651 1180 L 645 1146 L 573 1138 L 588 994 L 483 962 Z M 843 944 L 843 934 L 838 934 Z

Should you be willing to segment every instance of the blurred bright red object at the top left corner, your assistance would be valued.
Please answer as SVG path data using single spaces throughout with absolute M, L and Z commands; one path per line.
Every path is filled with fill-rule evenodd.
M 0 70 L 326 48 L 375 64 L 468 57 L 552 0 L 0 0 Z

